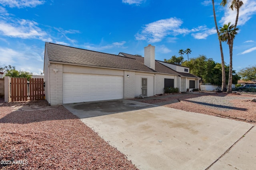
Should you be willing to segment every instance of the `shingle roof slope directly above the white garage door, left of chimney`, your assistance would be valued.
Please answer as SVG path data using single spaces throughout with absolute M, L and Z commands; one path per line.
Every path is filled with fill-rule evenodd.
M 78 49 L 54 43 L 45 43 L 45 46 L 49 61 L 154 72 L 144 64 L 137 62 L 136 59 L 128 57 Z

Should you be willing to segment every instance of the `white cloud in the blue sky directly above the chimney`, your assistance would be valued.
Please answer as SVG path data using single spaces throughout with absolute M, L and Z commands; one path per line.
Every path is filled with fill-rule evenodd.
M 158 20 L 143 27 L 140 33 L 135 35 L 137 40 L 147 40 L 155 43 L 162 41 L 167 35 L 188 34 L 190 30 L 180 28 L 183 21 L 178 18 L 169 18 L 165 20 Z

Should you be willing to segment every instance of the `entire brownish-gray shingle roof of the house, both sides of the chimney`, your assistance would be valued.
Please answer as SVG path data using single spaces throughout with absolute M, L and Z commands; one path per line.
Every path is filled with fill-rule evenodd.
M 155 61 L 155 70 L 144 65 L 144 57 L 119 53 L 112 55 L 97 51 L 90 51 L 54 43 L 45 43 L 49 61 L 60 63 L 81 64 L 85 66 L 100 66 L 108 68 L 120 68 L 127 70 L 140 70 L 146 72 L 159 72 L 178 76 L 198 78 L 190 73 L 176 72 L 171 68 Z

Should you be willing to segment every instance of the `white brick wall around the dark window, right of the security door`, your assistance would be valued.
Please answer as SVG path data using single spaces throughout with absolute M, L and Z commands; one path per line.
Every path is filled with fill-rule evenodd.
M 174 79 L 174 87 L 177 87 L 176 76 L 165 75 L 165 74 L 156 74 L 156 94 L 164 93 L 164 78 Z

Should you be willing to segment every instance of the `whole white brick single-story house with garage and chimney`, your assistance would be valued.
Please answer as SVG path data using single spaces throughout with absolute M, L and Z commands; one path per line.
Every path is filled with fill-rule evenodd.
M 164 87 L 199 88 L 189 68 L 155 60 L 155 47 L 144 57 L 112 55 L 45 43 L 45 96 L 51 105 L 163 94 Z

